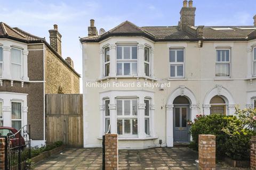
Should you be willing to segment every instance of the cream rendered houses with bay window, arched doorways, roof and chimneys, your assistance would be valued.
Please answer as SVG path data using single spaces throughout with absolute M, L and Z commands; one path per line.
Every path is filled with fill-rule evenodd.
M 256 107 L 256 15 L 254 25 L 210 27 L 195 25 L 195 12 L 183 1 L 178 25 L 125 21 L 100 34 L 90 21 L 80 39 L 84 147 L 100 147 L 109 125 L 119 148 L 173 147 L 191 140 L 197 114 Z

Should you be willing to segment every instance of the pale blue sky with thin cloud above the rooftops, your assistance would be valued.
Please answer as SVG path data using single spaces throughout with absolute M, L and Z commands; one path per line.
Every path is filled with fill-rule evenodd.
M 90 19 L 108 31 L 123 21 L 139 27 L 177 25 L 183 0 L 108 1 L 6 1 L 0 0 L 0 21 L 19 27 L 49 42 L 48 30 L 58 24 L 62 35 L 62 57 L 71 57 L 82 74 L 82 47 L 78 37 L 87 36 Z M 195 25 L 253 25 L 255 0 L 194 0 Z M 80 80 L 82 92 L 82 78 Z

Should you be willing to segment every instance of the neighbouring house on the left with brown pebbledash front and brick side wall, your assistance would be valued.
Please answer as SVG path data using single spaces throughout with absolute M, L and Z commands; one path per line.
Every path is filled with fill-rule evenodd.
M 32 145 L 45 142 L 45 94 L 79 94 L 80 75 L 61 56 L 58 26 L 45 38 L 0 22 L 0 123 L 31 125 Z

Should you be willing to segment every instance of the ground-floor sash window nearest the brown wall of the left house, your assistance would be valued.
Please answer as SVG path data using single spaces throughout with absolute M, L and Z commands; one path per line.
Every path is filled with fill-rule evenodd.
M 21 129 L 21 103 L 12 102 L 12 128 Z

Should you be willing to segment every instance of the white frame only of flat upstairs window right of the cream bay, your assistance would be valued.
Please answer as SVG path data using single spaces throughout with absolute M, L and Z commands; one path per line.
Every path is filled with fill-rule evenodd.
M 175 51 L 175 62 L 170 61 L 170 52 L 171 50 Z M 183 62 L 177 62 L 177 51 L 183 50 Z M 182 65 L 183 66 L 183 76 L 177 75 L 177 66 Z M 175 66 L 175 77 L 171 77 L 171 66 Z M 171 79 L 173 78 L 185 78 L 185 49 L 184 48 L 170 48 L 169 49 L 169 77 Z

